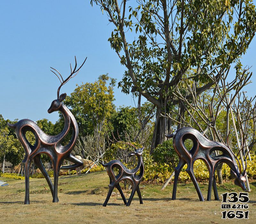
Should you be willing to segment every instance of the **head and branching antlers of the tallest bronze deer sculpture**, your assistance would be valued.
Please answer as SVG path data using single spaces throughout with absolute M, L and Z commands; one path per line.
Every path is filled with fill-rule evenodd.
M 62 106 L 62 101 L 65 100 L 65 98 L 67 97 L 67 94 L 66 94 L 66 93 L 62 93 L 62 94 L 60 95 L 60 88 L 61 88 L 61 86 L 63 86 L 64 84 L 66 84 L 66 83 L 69 81 L 69 79 L 75 77 L 75 76 L 78 74 L 78 72 L 80 71 L 80 69 L 81 69 L 82 66 L 84 65 L 86 59 L 87 59 L 87 57 L 85 58 L 83 64 L 82 64 L 78 69 L 76 69 L 77 62 L 76 62 L 76 56 L 75 56 L 75 62 L 76 62 L 75 68 L 72 69 L 72 66 L 71 66 L 71 63 L 70 63 L 71 73 L 70 73 L 70 75 L 68 76 L 68 78 L 66 78 L 65 80 L 62 78 L 60 72 L 59 72 L 57 69 L 50 67 L 50 68 L 52 68 L 54 71 L 56 71 L 56 72 L 60 75 L 60 76 L 58 76 L 57 73 L 55 73 L 53 70 L 51 70 L 51 71 L 59 78 L 59 80 L 60 80 L 60 86 L 59 86 L 59 88 L 58 88 L 58 90 L 57 90 L 57 99 L 52 101 L 51 107 L 48 109 L 48 113 L 49 113 L 49 114 L 52 113 L 52 112 L 54 112 L 54 111 L 59 111 L 59 110 L 60 110 L 60 108 L 61 108 L 61 106 Z M 61 78 L 61 79 L 60 79 L 60 78 Z M 61 81 L 61 80 L 62 80 L 62 81 Z

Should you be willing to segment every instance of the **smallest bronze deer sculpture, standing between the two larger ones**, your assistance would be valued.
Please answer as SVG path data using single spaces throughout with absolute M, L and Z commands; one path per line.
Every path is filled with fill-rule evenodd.
M 132 145 L 130 143 L 126 143 L 126 144 Z M 132 145 L 132 146 L 135 148 L 135 151 L 131 152 L 128 156 L 131 157 L 131 156 L 136 155 L 138 158 L 138 165 L 134 169 L 129 170 L 119 160 L 111 160 L 107 164 L 101 163 L 104 167 L 106 167 L 106 170 L 107 170 L 107 173 L 109 176 L 109 185 L 108 185 L 109 190 L 108 190 L 107 198 L 103 204 L 104 207 L 107 206 L 108 200 L 109 200 L 109 198 L 113 192 L 113 189 L 115 187 L 120 192 L 120 195 L 124 201 L 124 204 L 126 204 L 126 206 L 130 206 L 133 196 L 136 191 L 137 191 L 137 194 L 140 199 L 140 204 L 143 204 L 139 184 L 140 184 L 140 181 L 144 174 L 144 165 L 143 165 L 143 160 L 142 160 L 142 153 L 143 153 L 144 147 L 136 149 L 136 147 L 134 145 Z M 114 173 L 114 168 L 118 169 L 117 175 L 115 175 L 115 173 Z M 139 175 L 136 175 L 136 172 L 138 172 L 139 170 L 140 170 Z M 128 180 L 132 185 L 132 193 L 131 193 L 131 196 L 130 196 L 128 202 L 126 202 L 124 193 L 119 185 L 119 182 L 121 180 Z

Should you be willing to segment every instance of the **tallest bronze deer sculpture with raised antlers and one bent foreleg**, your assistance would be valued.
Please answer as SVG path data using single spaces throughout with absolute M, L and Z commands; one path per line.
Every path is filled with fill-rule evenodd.
M 76 57 L 75 57 L 75 61 L 76 61 Z M 16 124 L 8 123 L 8 126 L 10 128 L 15 129 L 16 136 L 25 150 L 25 158 L 22 161 L 22 164 L 24 167 L 24 173 L 25 173 L 25 203 L 24 204 L 29 204 L 29 168 L 32 160 L 34 160 L 34 164 L 36 164 L 36 166 L 41 170 L 42 174 L 44 175 L 51 189 L 51 193 L 53 197 L 52 202 L 59 201 L 58 178 L 59 178 L 60 166 L 63 160 L 66 159 L 74 164 L 68 165 L 68 166 L 62 166 L 61 169 L 74 169 L 76 167 L 83 165 L 83 162 L 81 160 L 77 159 L 75 156 L 72 156 L 70 154 L 73 148 L 75 147 L 75 144 L 78 138 L 78 126 L 77 126 L 75 117 L 62 102 L 66 98 L 67 94 L 63 93 L 60 95 L 60 88 L 65 83 L 67 83 L 69 79 L 77 75 L 80 68 L 84 65 L 84 62 L 78 69 L 76 69 L 77 63 L 74 69 L 72 69 L 70 64 L 71 74 L 65 80 L 62 78 L 62 76 L 56 69 L 52 68 L 60 76 L 58 76 L 54 71 L 51 70 L 59 78 L 61 84 L 57 91 L 57 99 L 52 101 L 51 107 L 48 109 L 48 113 L 52 113 L 54 111 L 60 111 L 62 113 L 65 120 L 65 125 L 62 132 L 60 132 L 58 135 L 50 136 L 44 133 L 36 125 L 35 122 L 28 119 L 20 120 Z M 61 143 L 63 142 L 65 137 L 68 135 L 70 128 L 72 128 L 73 130 L 71 140 L 69 141 L 68 145 L 62 146 Z M 28 131 L 32 132 L 35 136 L 36 142 L 34 145 L 32 145 L 26 138 L 26 132 Z M 53 173 L 54 185 L 52 185 L 52 181 L 49 175 L 47 174 L 42 164 L 42 161 L 40 159 L 40 154 L 42 153 L 47 154 L 52 161 L 53 172 L 54 172 Z

